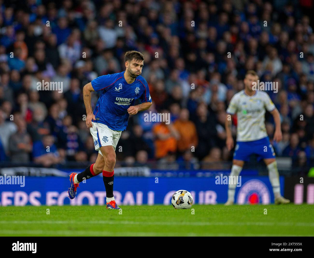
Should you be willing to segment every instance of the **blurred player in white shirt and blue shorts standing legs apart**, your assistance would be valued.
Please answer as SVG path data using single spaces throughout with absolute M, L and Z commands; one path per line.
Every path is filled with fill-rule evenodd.
M 228 106 L 225 127 L 227 133 L 226 145 L 230 151 L 233 146 L 231 134 L 232 116 L 237 116 L 237 138 L 235 153 L 233 156 L 230 176 L 239 176 L 244 162 L 249 160 L 251 154 L 257 154 L 263 158 L 267 168 L 270 183 L 273 187 L 275 204 L 287 204 L 290 200 L 280 194 L 279 173 L 273 147 L 269 142 L 265 128 L 265 110 L 274 118 L 276 129 L 273 140 L 280 142 L 282 139 L 280 116 L 277 108 L 268 94 L 261 90 L 254 90 L 253 82 L 257 83 L 258 75 L 250 70 L 244 78 L 244 90 L 236 93 Z M 266 151 L 265 151 L 266 149 Z M 236 183 L 229 182 L 228 200 L 225 205 L 234 203 Z

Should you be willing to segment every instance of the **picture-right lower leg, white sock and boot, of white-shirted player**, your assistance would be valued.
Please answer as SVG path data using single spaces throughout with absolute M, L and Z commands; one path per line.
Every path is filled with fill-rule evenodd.
M 280 194 L 280 182 L 279 182 L 279 173 L 277 168 L 277 161 L 275 158 L 265 158 L 264 162 L 268 169 L 269 181 L 273 187 L 273 193 L 275 196 L 275 204 L 287 204 L 290 203 L 290 200 L 285 199 Z

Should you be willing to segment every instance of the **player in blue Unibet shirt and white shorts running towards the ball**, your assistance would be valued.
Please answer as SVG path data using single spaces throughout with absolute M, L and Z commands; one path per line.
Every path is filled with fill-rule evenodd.
M 73 199 L 80 182 L 102 173 L 107 209 L 120 209 L 113 196 L 113 178 L 116 164 L 115 150 L 121 132 L 127 128 L 129 115 L 147 110 L 152 105 L 148 84 L 141 76 L 143 54 L 138 51 L 127 51 L 124 59 L 125 71 L 99 76 L 83 88 L 86 125 L 94 138 L 98 157 L 96 162 L 82 173 L 70 175 L 71 186 L 68 189 L 69 197 Z M 100 91 L 94 112 L 90 102 L 93 91 Z M 137 99 L 142 104 L 134 106 Z

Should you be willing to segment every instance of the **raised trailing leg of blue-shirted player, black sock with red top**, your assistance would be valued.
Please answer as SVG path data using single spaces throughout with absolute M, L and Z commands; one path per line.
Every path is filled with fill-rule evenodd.
M 68 188 L 68 194 L 70 199 L 74 199 L 76 196 L 77 188 L 79 187 L 79 183 L 81 183 L 84 179 L 87 180 L 89 178 L 95 177 L 98 174 L 102 173 L 102 170 L 105 166 L 104 157 L 98 153 L 98 157 L 96 162 L 87 167 L 82 173 L 72 173 L 70 175 L 70 187 Z

